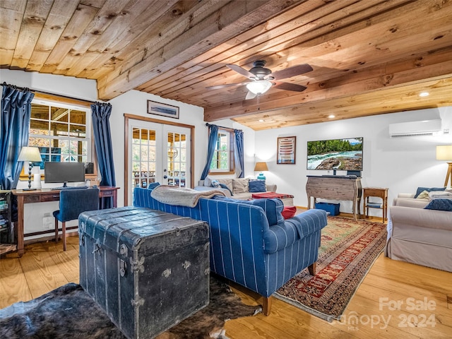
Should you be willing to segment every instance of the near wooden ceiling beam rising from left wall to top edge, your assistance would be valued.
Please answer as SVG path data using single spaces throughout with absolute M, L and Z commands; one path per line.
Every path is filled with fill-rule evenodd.
M 149 78 L 197 57 L 208 49 L 265 21 L 269 16 L 278 14 L 301 1 L 219 2 L 224 6 L 213 13 L 203 8 L 199 13 L 198 23 L 189 25 L 188 28 L 180 27 L 177 38 L 167 42 L 165 47 L 145 55 L 145 59 L 131 65 L 129 69 L 121 69 L 121 74 L 115 74 L 114 78 L 111 76 L 100 78 L 97 82 L 99 97 L 102 100 L 108 100 L 132 90 Z M 141 51 L 138 54 L 141 54 Z

